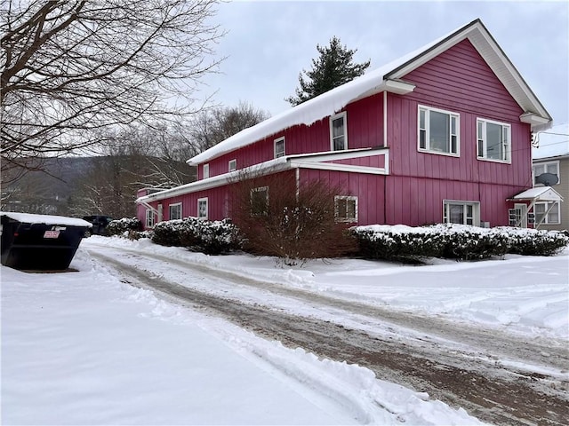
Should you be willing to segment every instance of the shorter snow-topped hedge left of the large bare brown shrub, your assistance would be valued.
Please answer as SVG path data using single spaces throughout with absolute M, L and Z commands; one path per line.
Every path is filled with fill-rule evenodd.
M 229 219 L 209 221 L 197 217 L 159 222 L 154 227 L 152 241 L 207 255 L 227 253 L 241 245 L 238 229 Z

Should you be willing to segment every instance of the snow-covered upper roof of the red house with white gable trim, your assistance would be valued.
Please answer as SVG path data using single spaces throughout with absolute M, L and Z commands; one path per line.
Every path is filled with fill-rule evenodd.
M 371 96 L 381 91 L 405 93 L 413 91 L 413 84 L 399 80 L 417 67 L 421 67 L 438 54 L 469 39 L 477 51 L 488 63 L 489 67 L 508 89 L 512 97 L 525 111 L 523 119 L 533 126 L 548 126 L 551 116 L 535 97 L 524 79 L 517 72 L 508 57 L 495 42 L 481 20 L 474 20 L 446 36 L 426 44 L 416 51 L 406 54 L 389 64 L 355 78 L 349 83 L 342 84 L 332 91 L 327 91 L 316 98 L 309 99 L 299 106 L 284 111 L 281 114 L 260 122 L 248 129 L 242 130 L 216 146 L 212 146 L 201 154 L 190 158 L 188 164 L 197 165 L 208 162 L 220 155 L 227 154 L 238 148 L 251 145 L 256 141 L 267 138 L 281 130 L 294 125 L 310 124 L 333 115 L 350 102 Z M 522 118 L 522 117 L 520 117 Z

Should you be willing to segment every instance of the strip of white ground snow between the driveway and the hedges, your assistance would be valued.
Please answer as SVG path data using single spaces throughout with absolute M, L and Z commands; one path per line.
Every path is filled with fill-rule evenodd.
M 481 262 L 433 259 L 429 265 L 403 266 L 334 259 L 278 268 L 270 257 L 206 256 L 148 240 L 98 237 L 84 241 L 90 243 L 136 248 L 327 296 L 569 340 L 569 248 L 558 256 L 507 255 L 503 260 Z

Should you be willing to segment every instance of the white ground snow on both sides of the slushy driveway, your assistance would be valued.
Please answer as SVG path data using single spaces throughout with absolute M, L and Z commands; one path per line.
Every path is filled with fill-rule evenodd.
M 569 250 L 425 266 L 338 259 L 279 268 L 267 257 L 91 237 L 71 264 L 79 272 L 0 269 L 3 424 L 477 424 L 366 368 L 284 348 L 121 283 L 86 251 L 104 245 L 569 340 Z

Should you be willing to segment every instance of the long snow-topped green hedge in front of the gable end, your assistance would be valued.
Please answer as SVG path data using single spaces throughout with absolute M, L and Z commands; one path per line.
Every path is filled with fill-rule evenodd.
M 467 225 L 369 225 L 352 228 L 360 255 L 369 259 L 421 262 L 424 257 L 484 259 L 507 253 L 552 256 L 569 244 L 555 231 Z

